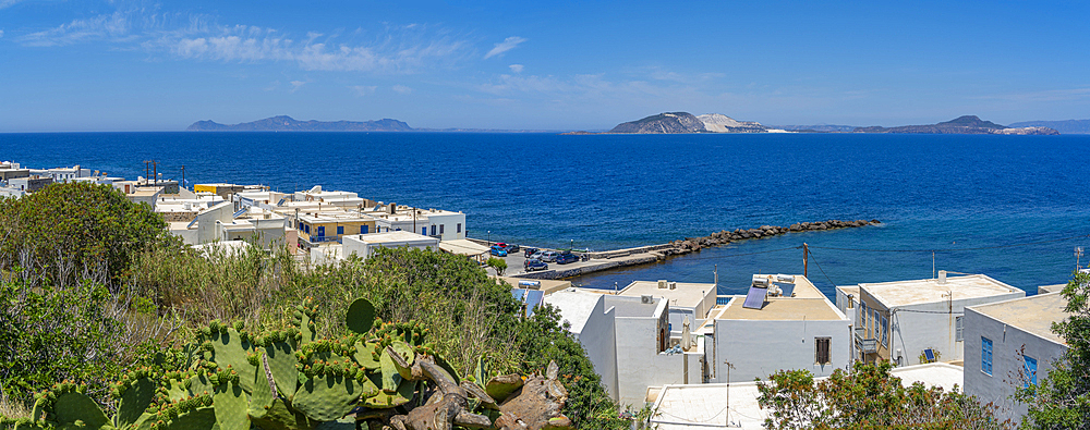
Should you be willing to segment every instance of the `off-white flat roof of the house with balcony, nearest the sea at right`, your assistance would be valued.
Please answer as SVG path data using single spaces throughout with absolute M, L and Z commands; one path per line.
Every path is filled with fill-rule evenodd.
M 940 284 L 937 279 L 923 279 L 859 284 L 859 287 L 886 307 L 946 302 L 950 293 L 954 294 L 954 300 L 964 300 L 1020 291 L 984 274 L 947 277 L 945 284 Z

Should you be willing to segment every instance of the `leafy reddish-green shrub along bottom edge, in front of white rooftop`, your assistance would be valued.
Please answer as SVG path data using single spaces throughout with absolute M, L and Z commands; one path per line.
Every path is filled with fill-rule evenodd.
M 807 370 L 780 370 L 768 382 L 758 382 L 762 408 L 771 409 L 768 429 L 927 428 L 1005 429 L 994 407 L 981 405 L 955 389 L 904 386 L 889 374 L 892 365 L 857 363 L 848 372 L 837 369 L 814 381 Z

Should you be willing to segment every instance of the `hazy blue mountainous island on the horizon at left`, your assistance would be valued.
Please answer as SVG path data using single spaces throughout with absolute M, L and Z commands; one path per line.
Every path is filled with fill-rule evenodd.
M 197 121 L 185 128 L 187 132 L 412 132 L 403 121 L 299 121 L 279 115 L 239 124 L 220 124 L 215 121 Z

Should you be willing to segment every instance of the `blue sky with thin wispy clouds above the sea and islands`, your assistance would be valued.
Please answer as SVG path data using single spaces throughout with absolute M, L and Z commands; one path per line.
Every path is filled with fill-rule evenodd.
M 1086 2 L 0 0 L 0 132 L 1090 118 Z

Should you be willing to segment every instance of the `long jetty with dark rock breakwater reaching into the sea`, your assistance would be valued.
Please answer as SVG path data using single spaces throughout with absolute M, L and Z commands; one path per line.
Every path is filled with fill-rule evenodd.
M 605 251 L 578 251 L 572 253 L 585 255 L 586 261 L 578 261 L 570 265 L 549 265 L 548 270 L 514 273 L 511 278 L 524 279 L 565 279 L 581 274 L 600 272 L 604 270 L 622 267 L 646 265 L 664 260 L 669 257 L 681 256 L 699 251 L 703 248 L 722 246 L 736 242 L 767 238 L 788 233 L 818 232 L 828 230 L 840 230 L 861 228 L 880 224 L 879 220 L 827 220 L 816 222 L 798 222 L 788 226 L 761 225 L 753 229 L 735 229 L 734 231 L 723 230 L 702 237 L 686 237 L 671 241 L 666 244 L 638 246 L 633 248 L 614 249 Z

